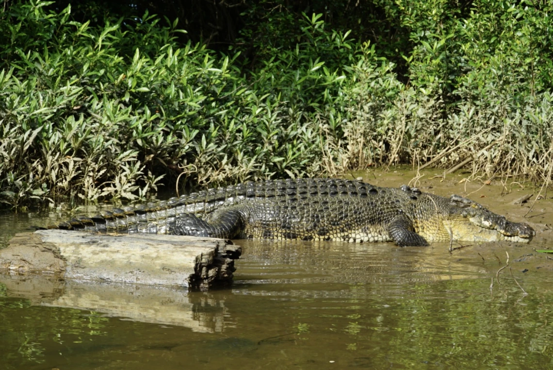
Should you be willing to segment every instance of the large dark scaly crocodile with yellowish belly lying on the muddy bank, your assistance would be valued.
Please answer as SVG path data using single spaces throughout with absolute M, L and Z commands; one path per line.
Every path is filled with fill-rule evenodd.
M 50 228 L 224 239 L 393 241 L 399 246 L 528 243 L 535 235 L 528 224 L 509 222 L 461 196 L 326 178 L 248 181 L 77 216 Z

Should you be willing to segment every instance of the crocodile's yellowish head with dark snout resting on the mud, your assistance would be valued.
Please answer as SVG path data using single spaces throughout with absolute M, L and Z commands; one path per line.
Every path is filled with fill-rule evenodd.
M 510 222 L 467 198 L 452 195 L 446 208 L 444 225 L 453 240 L 529 243 L 536 235 L 528 224 Z

